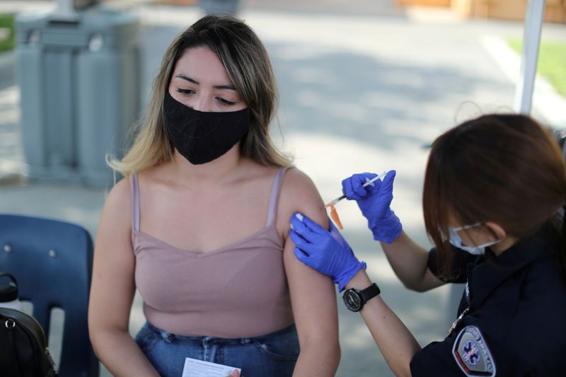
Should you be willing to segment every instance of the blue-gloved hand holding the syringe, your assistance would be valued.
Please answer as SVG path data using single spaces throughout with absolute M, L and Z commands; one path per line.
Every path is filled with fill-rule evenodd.
M 403 226 L 395 213 L 389 208 L 393 200 L 393 180 L 395 170 L 389 170 L 382 180 L 363 187 L 364 183 L 375 178 L 375 173 L 354 174 L 342 180 L 342 192 L 347 199 L 355 200 L 368 221 L 374 240 L 392 243 Z

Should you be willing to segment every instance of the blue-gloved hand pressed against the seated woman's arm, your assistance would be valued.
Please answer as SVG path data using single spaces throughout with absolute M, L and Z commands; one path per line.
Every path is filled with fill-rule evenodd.
M 295 243 L 297 259 L 321 274 L 332 277 L 342 291 L 359 269 L 366 268 L 366 264 L 357 260 L 332 221 L 329 220 L 328 224 L 330 231 L 297 212 L 291 217 L 289 236 Z

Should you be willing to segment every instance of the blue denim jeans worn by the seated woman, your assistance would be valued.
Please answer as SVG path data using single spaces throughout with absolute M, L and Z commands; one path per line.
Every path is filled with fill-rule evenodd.
M 185 357 L 241 368 L 245 377 L 289 377 L 299 357 L 295 325 L 260 337 L 224 339 L 174 335 L 146 323 L 136 342 L 163 377 L 180 377 Z

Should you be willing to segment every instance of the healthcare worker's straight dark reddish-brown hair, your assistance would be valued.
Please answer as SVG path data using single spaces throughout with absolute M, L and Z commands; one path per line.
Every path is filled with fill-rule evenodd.
M 439 272 L 449 277 L 449 213 L 462 224 L 495 222 L 531 236 L 566 202 L 566 168 L 550 130 L 526 115 L 483 115 L 438 137 L 424 176 L 422 208 Z M 564 233 L 564 231 L 562 231 Z M 562 267 L 566 247 L 561 241 Z

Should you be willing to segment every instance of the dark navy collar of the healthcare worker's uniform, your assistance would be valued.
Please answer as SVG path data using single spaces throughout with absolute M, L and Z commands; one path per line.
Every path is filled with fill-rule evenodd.
M 488 248 L 483 262 L 468 265 L 470 307 L 479 308 L 500 284 L 547 251 L 551 239 L 548 235 L 548 227 L 543 226 L 534 236 L 519 240 L 502 255 L 496 256 Z

